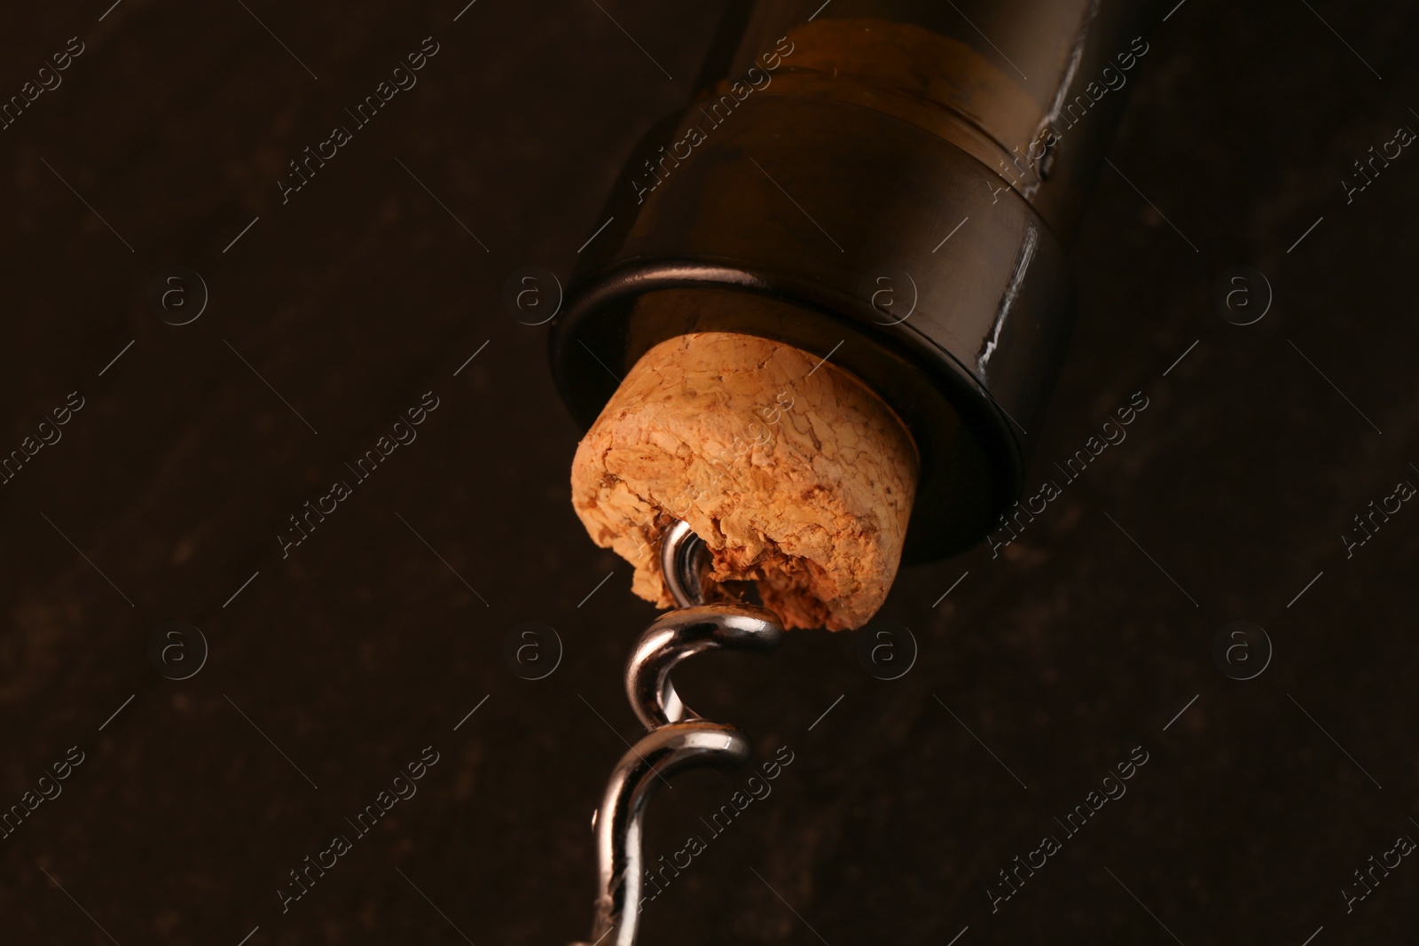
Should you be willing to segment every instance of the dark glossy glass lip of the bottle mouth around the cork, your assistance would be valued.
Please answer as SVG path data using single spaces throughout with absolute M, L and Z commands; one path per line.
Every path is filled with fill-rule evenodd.
M 637 301 L 656 292 L 734 294 L 738 318 L 705 321 L 657 306 L 653 325 L 633 325 Z M 1023 486 L 1025 447 L 986 389 L 914 326 L 864 330 L 861 301 L 793 277 L 771 277 L 724 261 L 627 261 L 582 284 L 552 323 L 558 393 L 582 428 L 600 414 L 619 379 L 660 342 L 692 332 L 771 338 L 827 356 L 877 393 L 910 433 L 921 461 L 902 563 L 962 552 L 995 528 Z M 868 319 L 870 322 L 870 319 Z M 634 339 L 634 340 L 631 340 Z

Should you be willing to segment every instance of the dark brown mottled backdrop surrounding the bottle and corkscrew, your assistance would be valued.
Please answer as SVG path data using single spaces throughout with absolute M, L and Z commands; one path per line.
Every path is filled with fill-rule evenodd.
M 721 4 L 106 6 L 0 14 L 3 96 L 85 44 L 0 130 L 0 450 L 85 399 L 0 485 L 0 806 L 85 753 L 0 840 L 3 939 L 583 937 L 589 816 L 639 735 L 620 669 L 654 611 L 572 512 L 546 329 L 501 294 L 570 272 Z M 1005 556 L 900 576 L 881 614 L 920 641 L 911 672 L 800 631 L 680 674 L 795 760 L 647 908 L 646 943 L 1412 942 L 1415 858 L 1351 913 L 1340 889 L 1419 837 L 1419 511 L 1349 559 L 1340 535 L 1419 484 L 1419 157 L 1348 206 L 1340 182 L 1419 128 L 1419 13 L 1310 6 L 1188 0 L 1152 35 L 1110 153 L 1138 190 L 1105 166 L 1027 482 L 1149 406 Z M 417 87 L 282 206 L 285 162 L 426 35 Z M 148 301 L 172 265 L 210 289 L 180 328 Z M 1276 296 L 1246 328 L 1212 302 L 1236 265 Z M 417 440 L 282 559 L 287 516 L 430 390 Z M 146 651 L 173 620 L 211 648 L 183 682 Z M 565 644 L 535 682 L 502 658 L 528 620 Z M 1274 647 L 1249 682 L 1213 660 L 1236 620 Z M 282 913 L 288 871 L 424 746 L 419 794 Z M 996 872 L 1135 746 L 1127 796 L 992 915 Z M 746 774 L 663 791 L 651 859 Z

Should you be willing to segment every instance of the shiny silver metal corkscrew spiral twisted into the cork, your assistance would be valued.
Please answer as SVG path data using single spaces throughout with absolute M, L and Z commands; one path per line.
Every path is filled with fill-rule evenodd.
M 690 709 L 670 672 L 705 651 L 766 654 L 783 637 L 778 618 L 762 607 L 705 604 L 708 553 L 685 522 L 666 530 L 660 562 L 680 608 L 646 628 L 626 664 L 626 696 L 648 733 L 616 763 L 592 821 L 599 862 L 596 918 L 592 939 L 575 946 L 634 946 L 644 875 L 643 821 L 656 789 L 680 772 L 736 766 L 749 757 L 749 743 L 739 730 Z

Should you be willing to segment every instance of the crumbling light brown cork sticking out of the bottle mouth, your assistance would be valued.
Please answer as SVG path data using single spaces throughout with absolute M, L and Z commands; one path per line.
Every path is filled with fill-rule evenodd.
M 771 339 L 697 332 L 651 347 L 572 462 L 592 539 L 674 606 L 660 536 L 684 519 L 711 590 L 753 583 L 788 628 L 856 628 L 901 563 L 920 460 L 901 420 L 849 372 Z

